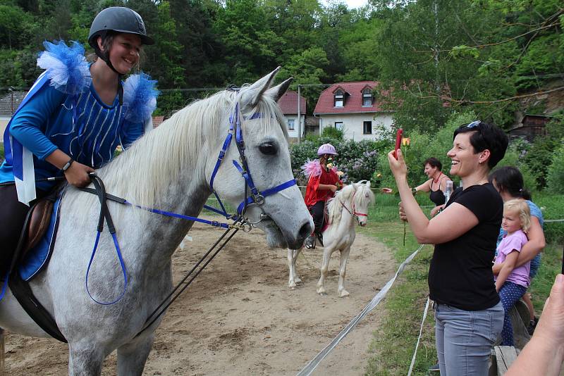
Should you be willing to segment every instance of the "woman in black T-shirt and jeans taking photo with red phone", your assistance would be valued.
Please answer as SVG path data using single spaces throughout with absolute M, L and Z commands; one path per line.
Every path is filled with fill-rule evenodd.
M 435 244 L 429 296 L 435 301 L 436 349 L 441 375 L 487 375 L 491 346 L 503 327 L 503 306 L 491 261 L 503 201 L 488 174 L 505 155 L 508 137 L 495 125 L 474 121 L 454 132 L 450 175 L 460 177 L 442 213 L 427 219 L 407 184 L 401 151 L 388 161 L 407 220 L 420 244 Z

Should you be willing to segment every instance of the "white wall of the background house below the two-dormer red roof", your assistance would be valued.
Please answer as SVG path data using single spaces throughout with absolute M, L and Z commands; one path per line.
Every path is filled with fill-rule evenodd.
M 393 118 L 391 113 L 338 113 L 331 115 L 318 115 L 319 132 L 323 128 L 335 127 L 336 122 L 343 122 L 345 139 L 361 141 L 362 139 L 379 139 L 378 128 L 384 125 L 391 130 Z M 364 134 L 364 121 L 372 121 L 372 134 Z

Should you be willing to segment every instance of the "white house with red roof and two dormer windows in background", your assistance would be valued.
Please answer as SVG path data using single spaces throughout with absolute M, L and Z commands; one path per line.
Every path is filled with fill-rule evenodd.
M 336 127 L 345 131 L 345 139 L 360 141 L 377 139 L 381 127 L 391 130 L 393 113 L 372 94 L 378 85 L 377 81 L 340 82 L 321 92 L 313 112 L 319 118 L 319 132 Z

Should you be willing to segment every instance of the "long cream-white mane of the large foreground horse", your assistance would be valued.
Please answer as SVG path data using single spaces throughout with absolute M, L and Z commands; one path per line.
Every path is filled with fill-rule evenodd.
M 155 207 L 159 206 L 159 198 L 180 170 L 192 168 L 192 180 L 204 181 L 206 162 L 217 158 L 226 136 L 219 134 L 221 125 L 228 121 L 235 101 L 247 87 L 245 85 L 240 92 L 226 90 L 195 101 L 137 139 L 114 161 L 97 171 L 106 184 L 106 191 L 132 203 Z M 271 134 L 276 126 L 281 127 L 288 138 L 284 117 L 274 99 L 263 96 L 245 115 L 254 113 L 263 114 L 265 134 Z M 68 196 L 74 196 L 73 191 L 75 189 L 71 189 Z M 83 198 L 80 195 L 81 205 L 99 205 L 94 195 L 84 198 L 86 201 Z M 68 205 L 73 201 L 70 198 Z

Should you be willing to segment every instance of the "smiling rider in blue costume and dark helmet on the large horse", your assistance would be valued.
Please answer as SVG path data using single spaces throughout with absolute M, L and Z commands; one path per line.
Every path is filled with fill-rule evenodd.
M 155 81 L 147 75 L 121 77 L 139 63 L 147 36 L 139 14 L 129 8 L 101 11 L 90 27 L 88 43 L 98 56 L 87 63 L 77 42 L 45 42 L 37 59 L 39 76 L 4 133 L 6 161 L 0 166 L 0 276 L 8 275 L 29 204 L 46 196 L 66 178 L 84 187 L 89 173 L 152 129 L 157 105 Z M 36 180 L 37 179 L 37 180 Z M 37 182 L 37 184 L 36 184 Z

